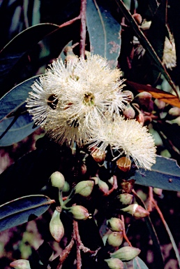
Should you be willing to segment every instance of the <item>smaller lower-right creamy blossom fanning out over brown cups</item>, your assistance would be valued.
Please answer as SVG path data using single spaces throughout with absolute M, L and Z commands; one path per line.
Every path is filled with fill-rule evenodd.
M 123 117 L 117 116 L 112 121 L 98 125 L 96 131 L 92 131 L 89 142 L 89 149 L 98 147 L 100 152 L 110 145 L 112 150 L 119 152 L 114 159 L 124 154 L 129 159 L 133 158 L 137 167 L 151 170 L 153 163 L 156 163 L 153 137 L 147 127 L 137 120 L 124 120 Z

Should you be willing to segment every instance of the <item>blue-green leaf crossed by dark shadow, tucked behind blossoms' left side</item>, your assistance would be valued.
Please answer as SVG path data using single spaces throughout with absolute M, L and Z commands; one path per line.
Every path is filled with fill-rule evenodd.
M 0 99 L 0 146 L 17 143 L 38 128 L 25 107 L 25 100 L 36 78 L 38 76 L 20 83 Z

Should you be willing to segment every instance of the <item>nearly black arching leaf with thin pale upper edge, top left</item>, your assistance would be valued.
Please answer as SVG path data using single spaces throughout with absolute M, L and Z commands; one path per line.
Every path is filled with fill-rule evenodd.
M 51 23 L 42 23 L 25 29 L 17 34 L 0 52 L 0 97 L 8 90 L 9 81 L 8 74 L 15 68 L 22 56 L 27 50 L 36 45 L 48 34 L 57 31 L 58 25 Z M 13 69 L 15 71 L 15 69 Z M 12 74 L 11 74 L 12 75 Z M 12 77 L 12 76 L 11 76 Z

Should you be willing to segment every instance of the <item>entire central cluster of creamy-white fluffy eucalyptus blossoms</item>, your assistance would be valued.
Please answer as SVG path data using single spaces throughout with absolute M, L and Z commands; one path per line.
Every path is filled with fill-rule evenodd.
M 66 64 L 56 60 L 33 83 L 29 113 L 59 144 L 89 144 L 92 153 L 96 147 L 100 154 L 110 145 L 119 156 L 150 169 L 156 158 L 153 138 L 136 120 L 121 116 L 132 95 L 123 91 L 125 80 L 120 77 L 121 71 L 98 55 Z

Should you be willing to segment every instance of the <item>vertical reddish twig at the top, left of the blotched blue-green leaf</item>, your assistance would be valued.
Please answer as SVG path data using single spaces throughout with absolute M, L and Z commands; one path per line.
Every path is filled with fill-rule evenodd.
M 87 0 L 81 0 L 81 29 L 80 29 L 80 55 L 85 55 L 85 44 L 86 44 L 86 11 L 87 11 Z

